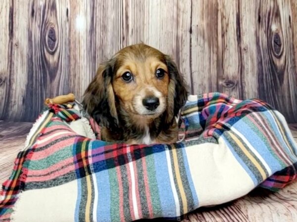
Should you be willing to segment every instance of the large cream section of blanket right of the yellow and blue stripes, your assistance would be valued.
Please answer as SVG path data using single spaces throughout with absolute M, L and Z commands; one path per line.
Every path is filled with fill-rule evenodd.
M 199 203 L 203 203 L 200 207 L 225 203 L 230 197 L 239 198 L 253 189 L 247 172 L 223 142 L 195 145 L 185 150 Z M 213 175 L 211 180 L 204 180 L 210 175 Z

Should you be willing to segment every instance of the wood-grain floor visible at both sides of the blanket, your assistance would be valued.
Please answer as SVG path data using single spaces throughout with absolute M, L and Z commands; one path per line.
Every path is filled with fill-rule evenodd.
M 32 123 L 0 121 L 0 184 L 11 173 Z M 297 124 L 290 125 L 297 141 Z M 159 221 L 159 220 L 157 220 Z M 279 192 L 257 188 L 248 195 L 211 208 L 199 208 L 183 222 L 296 222 L 297 181 Z

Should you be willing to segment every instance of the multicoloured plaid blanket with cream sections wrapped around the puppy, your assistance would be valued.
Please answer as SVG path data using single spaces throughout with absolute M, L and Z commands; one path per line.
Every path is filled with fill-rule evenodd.
M 182 142 L 128 146 L 96 139 L 69 105 L 49 106 L 2 185 L 0 221 L 179 219 L 296 179 L 297 144 L 266 103 L 190 96 L 181 119 Z

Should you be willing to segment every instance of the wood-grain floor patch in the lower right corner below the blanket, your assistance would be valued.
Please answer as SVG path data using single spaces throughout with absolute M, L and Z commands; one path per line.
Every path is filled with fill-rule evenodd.
M 183 222 L 296 222 L 297 182 L 278 192 L 256 188 L 235 201 L 199 208 Z

